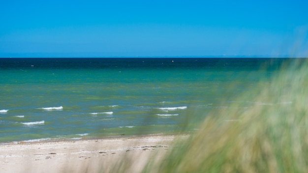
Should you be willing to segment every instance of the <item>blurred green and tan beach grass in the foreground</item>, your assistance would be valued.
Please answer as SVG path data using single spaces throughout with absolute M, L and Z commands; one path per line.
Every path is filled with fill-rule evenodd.
M 307 173 L 308 60 L 287 60 L 154 162 L 157 154 L 143 173 Z M 124 157 L 114 171 L 126 172 L 132 160 Z

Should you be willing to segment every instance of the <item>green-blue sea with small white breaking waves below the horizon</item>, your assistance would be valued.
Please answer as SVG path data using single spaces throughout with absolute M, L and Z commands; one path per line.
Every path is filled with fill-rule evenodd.
M 285 60 L 0 58 L 0 143 L 192 133 Z

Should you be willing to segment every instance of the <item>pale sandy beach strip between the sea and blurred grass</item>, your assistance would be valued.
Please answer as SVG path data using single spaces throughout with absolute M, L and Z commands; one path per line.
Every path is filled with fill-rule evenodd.
M 79 141 L 0 144 L 0 173 L 137 173 L 163 159 L 176 139 L 187 135 L 152 135 Z M 116 165 L 117 164 L 117 165 Z

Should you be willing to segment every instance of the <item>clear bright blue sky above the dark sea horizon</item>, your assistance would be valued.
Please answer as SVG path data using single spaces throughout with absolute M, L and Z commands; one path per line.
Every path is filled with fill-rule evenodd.
M 0 57 L 308 57 L 307 0 L 3 0 Z

